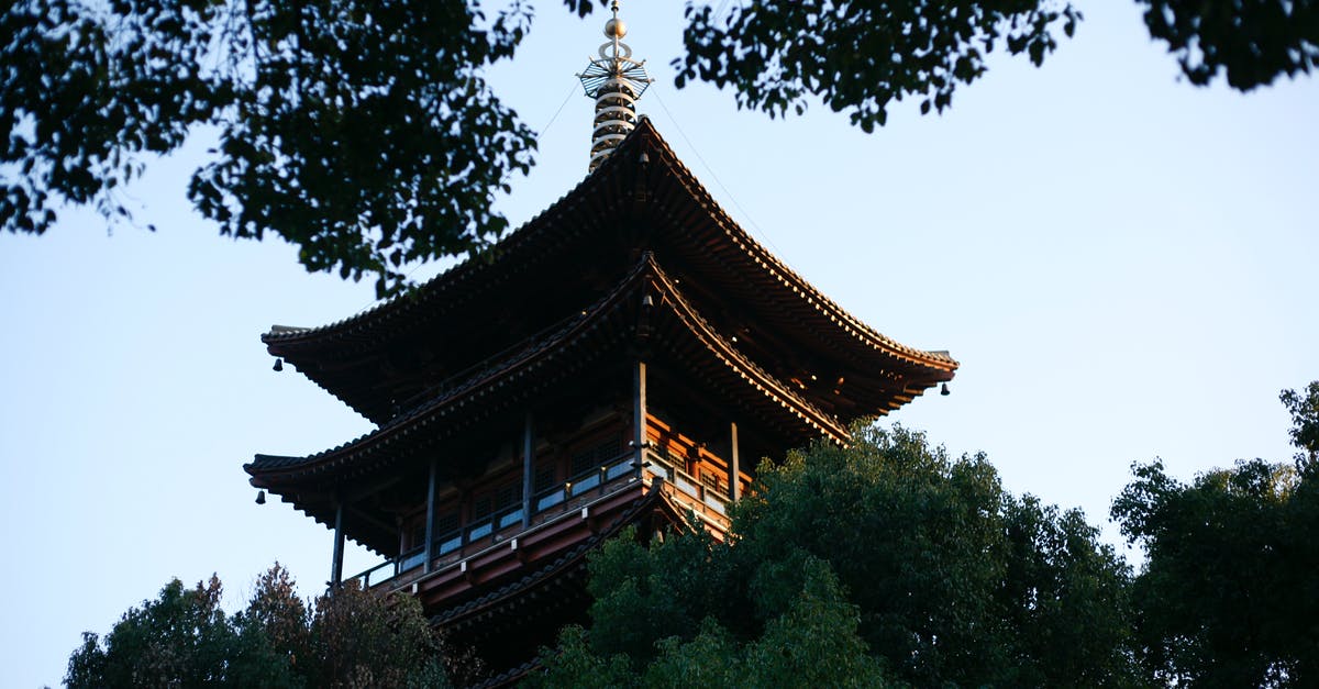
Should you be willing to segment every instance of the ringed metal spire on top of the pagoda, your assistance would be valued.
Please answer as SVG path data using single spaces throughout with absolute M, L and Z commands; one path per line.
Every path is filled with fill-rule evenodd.
M 595 129 L 591 132 L 591 166 L 595 169 L 609 157 L 613 148 L 637 125 L 636 100 L 650 86 L 646 62 L 632 59 L 632 49 L 621 38 L 628 25 L 619 18 L 619 0 L 613 0 L 613 18 L 604 22 L 608 42 L 598 50 L 578 78 L 588 98 L 595 99 Z

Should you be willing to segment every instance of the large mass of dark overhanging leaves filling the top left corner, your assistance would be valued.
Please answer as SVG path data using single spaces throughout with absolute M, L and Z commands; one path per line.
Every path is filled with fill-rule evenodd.
M 497 238 L 491 211 L 533 133 L 481 70 L 530 8 L 467 0 L 30 0 L 0 15 L 0 223 L 44 232 L 63 202 L 127 216 L 144 154 L 219 132 L 189 197 L 220 232 L 276 232 L 309 271 L 405 284 L 404 261 Z

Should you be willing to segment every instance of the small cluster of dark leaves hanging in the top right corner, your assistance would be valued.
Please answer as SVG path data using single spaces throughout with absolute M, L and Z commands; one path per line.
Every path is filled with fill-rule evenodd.
M 1137 0 L 1150 36 L 1167 42 L 1195 84 L 1225 74 L 1239 91 L 1319 63 L 1314 0 Z

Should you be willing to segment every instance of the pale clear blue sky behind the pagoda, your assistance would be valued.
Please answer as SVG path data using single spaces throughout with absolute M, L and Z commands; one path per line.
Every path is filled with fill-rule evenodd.
M 603 13 L 539 4 L 495 74 L 545 131 L 501 206 L 514 224 L 586 173 L 574 73 L 603 41 Z M 1009 490 L 1082 507 L 1117 542 L 1130 462 L 1188 479 L 1291 454 L 1277 393 L 1319 379 L 1319 82 L 1195 88 L 1134 3 L 1079 4 L 1043 69 L 1000 58 L 943 116 L 900 104 L 869 136 L 822 107 L 772 121 L 678 91 L 679 4 L 624 17 L 660 77 L 641 111 L 729 214 L 881 333 L 960 359 L 951 396 L 892 421 L 987 451 Z M 278 240 L 219 238 L 183 198 L 206 144 L 131 189 L 156 234 L 70 213 L 0 236 L 0 686 L 58 682 L 82 631 L 170 577 L 219 573 L 231 608 L 276 560 L 305 593 L 327 578 L 330 533 L 253 504 L 240 467 L 369 425 L 272 371 L 259 335 L 350 315 L 372 289 L 305 273 Z

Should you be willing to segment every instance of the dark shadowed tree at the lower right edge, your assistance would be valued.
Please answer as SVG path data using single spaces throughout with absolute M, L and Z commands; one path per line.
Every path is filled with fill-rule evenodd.
M 1319 405 L 1302 404 L 1293 391 L 1282 399 L 1294 413 L 1293 440 L 1306 449 Z M 1146 553 L 1133 586 L 1142 661 L 1179 685 L 1319 681 L 1314 462 L 1239 461 L 1191 484 L 1170 478 L 1159 461 L 1133 473 L 1112 515 Z

